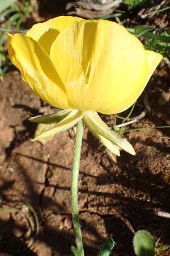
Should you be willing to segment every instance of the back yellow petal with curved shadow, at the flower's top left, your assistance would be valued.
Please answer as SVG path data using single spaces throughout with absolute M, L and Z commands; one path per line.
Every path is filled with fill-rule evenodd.
M 79 22 L 82 18 L 73 16 L 59 16 L 49 19 L 46 22 L 37 23 L 27 32 L 27 36 L 41 44 L 42 48 L 49 54 L 50 47 L 56 39 L 59 32 L 64 30 L 73 22 Z

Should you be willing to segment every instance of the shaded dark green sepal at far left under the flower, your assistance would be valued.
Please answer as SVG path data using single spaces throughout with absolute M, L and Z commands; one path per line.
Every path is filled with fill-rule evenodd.
M 36 115 L 36 117 L 31 117 L 28 120 L 33 123 L 44 123 L 45 125 L 50 125 L 51 123 L 58 123 L 63 118 L 65 118 L 72 109 L 60 110 L 53 114 L 48 115 Z

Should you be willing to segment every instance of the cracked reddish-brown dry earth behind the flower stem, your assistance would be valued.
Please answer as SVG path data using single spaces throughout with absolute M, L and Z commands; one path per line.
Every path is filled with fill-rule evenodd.
M 158 104 L 160 93 L 168 90 L 168 72 L 162 64 L 148 85 L 151 110 L 133 128 L 169 125 L 169 103 Z M 28 118 L 52 109 L 24 85 L 16 70 L 1 81 L 0 93 L 0 252 L 13 256 L 70 255 L 70 246 L 75 245 L 70 212 L 74 130 L 59 133 L 45 145 L 31 142 L 36 125 Z M 134 115 L 144 108 L 143 96 L 138 102 Z M 104 118 L 113 123 L 113 116 Z M 158 210 L 170 212 L 169 130 L 134 131 L 126 138 L 137 155 L 121 152 L 115 163 L 88 129 L 84 131 L 79 209 L 89 256 L 97 254 L 109 235 L 116 241 L 112 255 L 133 256 L 132 238 L 139 229 L 148 230 L 155 240 L 161 237 L 159 245 L 170 242 L 170 220 L 155 214 Z M 39 218 L 35 241 L 31 242 L 27 218 L 32 213 L 20 203 L 31 205 Z M 32 246 L 27 249 L 29 242 Z M 170 251 L 156 255 L 170 255 Z

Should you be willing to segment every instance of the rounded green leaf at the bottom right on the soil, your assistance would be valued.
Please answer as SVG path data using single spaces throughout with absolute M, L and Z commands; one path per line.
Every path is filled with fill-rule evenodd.
M 146 230 L 139 230 L 135 233 L 133 247 L 137 256 L 154 256 L 156 252 L 154 238 Z

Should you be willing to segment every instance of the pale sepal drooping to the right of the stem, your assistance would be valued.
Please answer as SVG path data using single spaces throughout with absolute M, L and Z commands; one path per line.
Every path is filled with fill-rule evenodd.
M 131 144 L 128 141 L 126 141 L 126 139 L 122 139 L 118 137 L 115 131 L 109 129 L 107 124 L 101 120 L 97 112 L 86 111 L 84 114 L 84 118 L 87 122 L 87 125 L 90 127 L 90 130 L 92 131 L 92 133 L 95 135 L 96 138 L 99 138 L 101 142 L 102 142 L 102 137 L 106 139 L 106 140 L 103 140 L 102 142 L 103 144 L 105 144 L 105 146 L 107 146 L 106 142 L 108 140 L 109 142 L 113 143 L 114 145 L 121 148 L 122 150 L 125 150 L 129 154 L 135 155 L 134 148 L 131 146 Z M 116 154 L 116 151 L 117 151 L 118 153 L 117 155 L 120 155 L 117 147 L 114 148 L 115 149 L 114 154 Z M 111 144 L 108 145 L 108 149 L 109 148 L 111 149 Z

